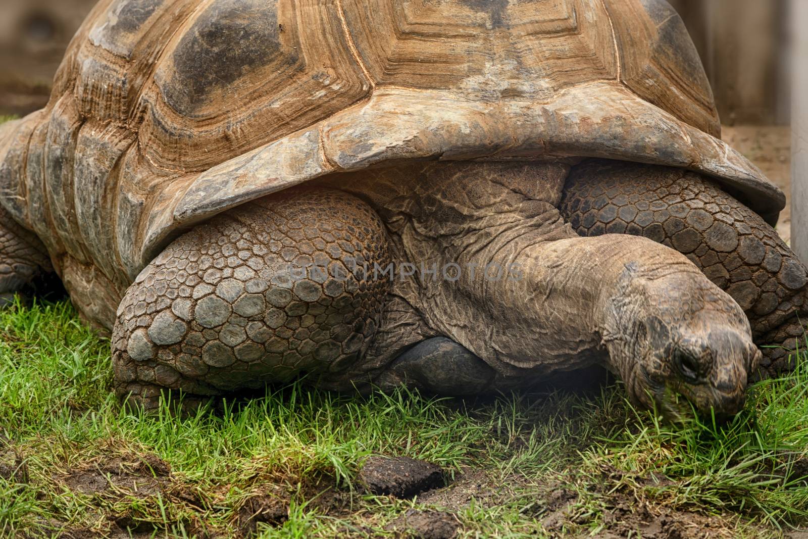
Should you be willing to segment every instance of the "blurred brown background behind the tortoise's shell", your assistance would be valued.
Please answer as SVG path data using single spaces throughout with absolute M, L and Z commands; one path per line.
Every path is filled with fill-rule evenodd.
M 723 138 L 789 192 L 789 4 L 808 0 L 669 0 L 696 44 Z M 95 0 L 0 0 L 0 115 L 48 101 L 70 38 Z M 789 237 L 789 212 L 778 229 Z

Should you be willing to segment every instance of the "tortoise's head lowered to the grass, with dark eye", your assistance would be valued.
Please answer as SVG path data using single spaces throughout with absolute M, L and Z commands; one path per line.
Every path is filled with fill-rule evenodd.
M 760 360 L 743 310 L 695 267 L 626 267 L 604 331 L 633 401 L 671 422 L 735 415 Z

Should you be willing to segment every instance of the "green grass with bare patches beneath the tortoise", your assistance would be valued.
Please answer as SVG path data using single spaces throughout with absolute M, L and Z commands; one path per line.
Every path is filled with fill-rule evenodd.
M 69 303 L 0 311 L 0 471 L 16 467 L 0 473 L 0 530 L 106 533 L 117 519 L 153 537 L 234 537 L 246 499 L 281 492 L 290 518 L 259 525 L 261 537 L 378 537 L 410 508 L 445 508 L 362 494 L 356 474 L 374 453 L 436 462 L 458 484 L 483 474 L 482 490 L 446 506 L 461 537 L 596 533 L 622 506 L 713 516 L 727 537 L 774 534 L 808 516 L 803 364 L 755 385 L 731 423 L 687 428 L 635 411 L 619 386 L 463 402 L 295 384 L 177 419 L 122 410 L 111 382 L 107 341 Z M 170 465 L 161 491 L 87 493 L 71 483 L 114 457 L 149 455 Z M 318 503 L 325 486 L 339 510 Z

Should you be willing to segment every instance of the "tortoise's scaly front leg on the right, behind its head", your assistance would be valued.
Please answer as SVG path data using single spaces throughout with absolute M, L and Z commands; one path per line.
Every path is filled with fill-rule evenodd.
M 806 267 L 718 183 L 682 169 L 593 160 L 571 172 L 562 213 L 583 236 L 645 236 L 687 255 L 746 312 L 764 346 L 761 368 L 787 368 L 808 324 Z

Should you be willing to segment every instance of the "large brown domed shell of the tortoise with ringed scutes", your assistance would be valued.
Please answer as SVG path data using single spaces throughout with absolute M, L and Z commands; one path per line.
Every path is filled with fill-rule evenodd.
M 663 0 L 103 0 L 48 107 L 0 132 L 0 189 L 125 287 L 227 208 L 407 159 L 681 166 L 776 218 L 719 135 Z

